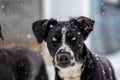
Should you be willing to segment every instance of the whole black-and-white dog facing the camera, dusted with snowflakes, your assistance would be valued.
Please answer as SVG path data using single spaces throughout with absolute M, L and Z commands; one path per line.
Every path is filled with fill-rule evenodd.
M 116 80 L 109 60 L 93 54 L 84 43 L 93 31 L 94 22 L 84 16 L 68 21 L 33 22 L 38 43 L 45 42 L 53 58 L 55 80 Z

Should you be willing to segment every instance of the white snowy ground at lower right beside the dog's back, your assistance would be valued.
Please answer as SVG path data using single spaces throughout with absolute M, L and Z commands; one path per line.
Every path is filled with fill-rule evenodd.
M 109 55 L 107 57 L 110 59 L 114 67 L 117 80 L 120 80 L 120 52 L 114 53 L 113 55 Z

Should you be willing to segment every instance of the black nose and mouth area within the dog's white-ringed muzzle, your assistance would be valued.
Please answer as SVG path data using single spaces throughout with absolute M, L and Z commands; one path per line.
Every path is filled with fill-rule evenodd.
M 58 66 L 60 67 L 67 67 L 70 65 L 70 53 L 69 52 L 64 52 L 64 51 L 59 51 L 57 54 L 57 62 Z

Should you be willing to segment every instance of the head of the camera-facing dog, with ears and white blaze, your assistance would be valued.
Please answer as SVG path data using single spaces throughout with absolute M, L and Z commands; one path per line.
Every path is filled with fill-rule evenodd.
M 32 24 L 38 43 L 46 41 L 56 67 L 66 68 L 81 62 L 84 40 L 94 21 L 79 17 L 69 21 L 39 20 Z

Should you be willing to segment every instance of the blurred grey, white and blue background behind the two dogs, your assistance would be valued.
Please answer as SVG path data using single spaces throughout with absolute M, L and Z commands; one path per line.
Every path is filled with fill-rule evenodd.
M 0 0 L 0 47 L 28 46 L 39 51 L 31 24 L 39 19 L 86 16 L 95 20 L 88 48 L 107 56 L 120 80 L 120 0 Z M 44 47 L 43 47 L 44 49 Z

